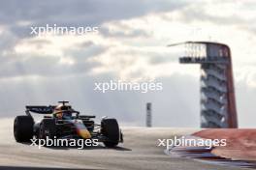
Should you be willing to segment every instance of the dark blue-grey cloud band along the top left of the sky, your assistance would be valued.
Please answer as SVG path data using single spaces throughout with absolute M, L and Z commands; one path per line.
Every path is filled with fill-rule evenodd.
M 48 24 L 81 26 L 80 24 L 99 26 L 112 20 L 129 19 L 149 13 L 176 10 L 184 2 L 168 0 L 64 0 L 52 2 L 50 0 L 37 2 L 19 1 L 2 2 L 0 20 L 8 25 L 17 36 L 28 33 L 28 25 L 44 26 Z M 27 10 L 26 10 L 27 9 Z M 29 10 L 28 10 L 29 9 Z M 12 12 L 12 14 L 10 14 Z

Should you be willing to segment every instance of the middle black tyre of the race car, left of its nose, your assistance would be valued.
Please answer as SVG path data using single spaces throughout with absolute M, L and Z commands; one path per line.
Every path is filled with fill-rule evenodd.
M 56 126 L 54 119 L 43 119 L 40 128 L 39 128 L 39 138 L 46 139 L 48 136 L 49 139 L 53 139 L 56 136 Z

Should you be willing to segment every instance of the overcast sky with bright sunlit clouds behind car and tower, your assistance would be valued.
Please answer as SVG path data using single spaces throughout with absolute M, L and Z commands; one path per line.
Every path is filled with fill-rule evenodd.
M 198 128 L 199 66 L 178 64 L 167 44 L 224 42 L 232 49 L 239 123 L 256 122 L 256 2 L 63 0 L 0 2 L 0 115 L 70 100 L 122 125 Z M 31 26 L 97 26 L 99 34 L 31 36 Z M 163 82 L 162 92 L 93 91 L 109 80 Z

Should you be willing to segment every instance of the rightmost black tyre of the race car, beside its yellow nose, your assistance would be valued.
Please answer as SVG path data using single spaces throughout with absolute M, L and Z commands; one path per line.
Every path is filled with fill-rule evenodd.
M 108 139 L 103 142 L 106 147 L 112 148 L 118 145 L 120 130 L 115 119 L 103 119 L 101 122 L 101 133 Z

